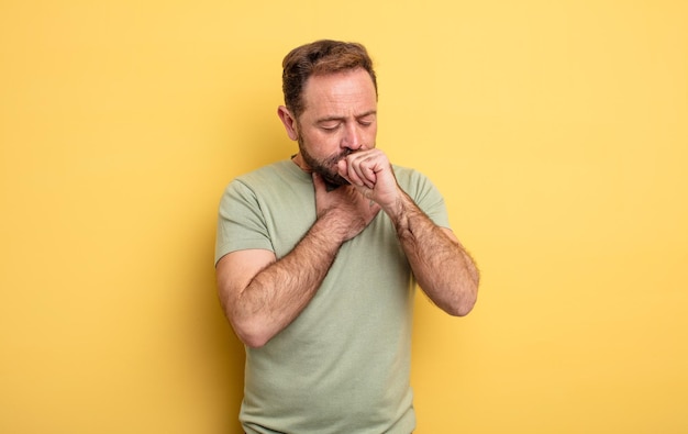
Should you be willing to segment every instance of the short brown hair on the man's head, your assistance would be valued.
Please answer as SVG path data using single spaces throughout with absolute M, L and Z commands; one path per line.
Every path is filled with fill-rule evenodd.
M 363 68 L 373 79 L 377 94 L 377 80 L 373 59 L 366 47 L 358 43 L 321 40 L 293 48 L 282 60 L 282 92 L 285 105 L 298 118 L 306 108 L 301 93 L 309 77 L 342 70 Z

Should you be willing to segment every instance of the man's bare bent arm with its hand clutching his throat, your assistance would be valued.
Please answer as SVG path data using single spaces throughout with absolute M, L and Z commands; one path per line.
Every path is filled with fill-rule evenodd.
M 237 251 L 218 263 L 220 301 L 248 346 L 265 345 L 306 309 L 342 244 L 360 233 L 379 211 L 353 188 L 328 192 L 317 175 L 313 182 L 318 219 L 290 253 L 277 260 L 270 251 Z

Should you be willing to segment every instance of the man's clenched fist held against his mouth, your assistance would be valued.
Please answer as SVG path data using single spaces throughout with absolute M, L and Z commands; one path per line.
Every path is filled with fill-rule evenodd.
M 387 155 L 379 149 L 355 152 L 340 160 L 340 175 L 388 214 L 398 212 L 402 194 Z

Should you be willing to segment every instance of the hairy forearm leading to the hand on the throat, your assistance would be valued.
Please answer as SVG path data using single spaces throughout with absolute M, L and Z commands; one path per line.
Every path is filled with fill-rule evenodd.
M 326 220 L 317 221 L 289 254 L 256 274 L 232 303 L 229 316 L 248 345 L 268 342 L 318 291 L 342 244 Z

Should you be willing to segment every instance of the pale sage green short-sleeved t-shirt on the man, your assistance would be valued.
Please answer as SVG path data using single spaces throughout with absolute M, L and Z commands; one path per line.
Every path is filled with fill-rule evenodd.
M 448 227 L 428 178 L 397 181 Z M 233 180 L 220 204 L 215 261 L 265 248 L 287 255 L 315 221 L 310 175 L 291 160 Z M 414 280 L 384 212 L 340 249 L 301 314 L 260 348 L 246 347 L 240 420 L 246 433 L 403 433 L 415 427 L 409 385 Z

